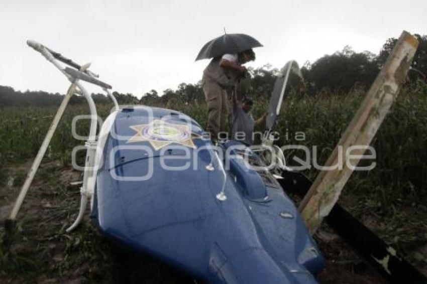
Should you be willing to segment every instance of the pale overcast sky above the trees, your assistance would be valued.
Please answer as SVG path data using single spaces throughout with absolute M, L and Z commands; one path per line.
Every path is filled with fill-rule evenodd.
M 346 45 L 378 54 L 402 30 L 427 34 L 426 13 L 426 0 L 0 0 L 0 85 L 66 91 L 66 78 L 27 39 L 77 63 L 91 62 L 90 69 L 114 90 L 140 97 L 200 80 L 208 61 L 194 59 L 224 27 L 264 45 L 249 66 L 280 68 L 290 59 L 303 65 Z

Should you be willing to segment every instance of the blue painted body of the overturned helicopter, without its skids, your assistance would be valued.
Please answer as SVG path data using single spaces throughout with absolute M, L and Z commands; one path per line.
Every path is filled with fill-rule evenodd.
M 141 135 L 135 139 L 138 127 L 158 119 L 173 125 L 189 122 L 193 146 L 185 137 L 179 144 Z M 152 128 L 141 133 L 150 135 Z M 169 130 L 159 130 L 160 135 L 169 137 Z M 246 167 L 240 153 L 244 146 L 237 141 L 223 146 L 230 152 L 223 161 L 230 165 L 227 200 L 218 200 L 223 172 L 215 159 L 213 170 L 206 169 L 212 153 L 202 149 L 211 143 L 201 134 L 197 122 L 175 111 L 121 110 L 96 178 L 92 213 L 102 233 L 211 283 L 315 282 L 312 274 L 324 260 L 292 201 L 268 173 Z M 257 160 L 252 152 L 247 155 Z M 189 169 L 173 171 L 164 165 Z M 120 180 L 150 174 L 150 167 L 152 176 L 145 181 Z

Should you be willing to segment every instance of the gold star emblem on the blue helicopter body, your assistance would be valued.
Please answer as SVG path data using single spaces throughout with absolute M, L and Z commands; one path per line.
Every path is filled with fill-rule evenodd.
M 193 135 L 188 125 L 172 124 L 158 119 L 148 124 L 137 124 L 129 127 L 134 129 L 136 133 L 127 143 L 148 141 L 156 151 L 172 143 L 196 148 L 193 138 L 201 138 L 199 135 Z

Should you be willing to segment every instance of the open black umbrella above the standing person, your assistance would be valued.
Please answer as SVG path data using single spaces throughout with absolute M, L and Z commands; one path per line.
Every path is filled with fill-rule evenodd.
M 262 44 L 251 36 L 244 34 L 225 34 L 206 43 L 196 60 L 222 56 L 226 53 L 238 53 Z

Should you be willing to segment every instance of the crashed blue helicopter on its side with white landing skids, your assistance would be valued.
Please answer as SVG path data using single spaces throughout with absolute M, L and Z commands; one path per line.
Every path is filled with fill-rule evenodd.
M 324 258 L 275 174 L 288 171 L 271 130 L 291 68 L 274 86 L 267 131 L 258 147 L 213 145 L 202 127 L 175 110 L 120 107 L 112 87 L 35 41 L 27 42 L 71 82 L 11 214 L 19 208 L 71 95 L 91 116 L 81 204 L 100 232 L 133 250 L 210 283 L 315 283 Z M 63 67 L 63 62 L 70 67 Z M 96 135 L 97 113 L 82 81 L 101 87 L 114 109 Z M 272 163 L 274 162 L 274 163 Z M 271 166 L 273 165 L 273 166 Z

